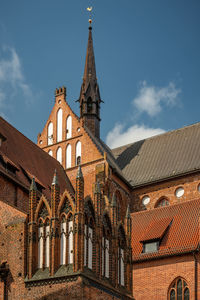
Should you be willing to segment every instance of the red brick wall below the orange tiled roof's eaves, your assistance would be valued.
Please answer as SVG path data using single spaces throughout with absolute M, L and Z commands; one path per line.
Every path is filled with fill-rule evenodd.
M 188 284 L 190 299 L 195 299 L 194 271 L 192 254 L 135 263 L 133 265 L 133 296 L 136 300 L 166 300 L 170 284 L 180 276 Z

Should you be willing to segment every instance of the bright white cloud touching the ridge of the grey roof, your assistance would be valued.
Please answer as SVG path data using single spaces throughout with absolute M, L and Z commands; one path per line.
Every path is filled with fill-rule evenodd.
M 150 128 L 145 125 L 133 125 L 127 129 L 122 124 L 116 124 L 107 134 L 106 143 L 112 148 L 130 144 L 157 134 L 164 133 L 161 128 Z

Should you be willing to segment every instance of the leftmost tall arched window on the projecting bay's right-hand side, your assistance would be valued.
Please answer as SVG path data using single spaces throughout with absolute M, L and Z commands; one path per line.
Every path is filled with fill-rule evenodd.
M 93 240 L 94 240 L 94 208 L 91 201 L 85 205 L 85 226 L 84 226 L 84 266 L 92 269 Z

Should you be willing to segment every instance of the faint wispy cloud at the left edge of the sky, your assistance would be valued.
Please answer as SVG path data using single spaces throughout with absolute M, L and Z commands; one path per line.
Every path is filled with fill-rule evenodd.
M 0 107 L 5 106 L 6 95 L 13 97 L 22 93 L 25 101 L 30 102 L 33 94 L 30 86 L 26 83 L 16 50 L 5 46 L 0 50 Z

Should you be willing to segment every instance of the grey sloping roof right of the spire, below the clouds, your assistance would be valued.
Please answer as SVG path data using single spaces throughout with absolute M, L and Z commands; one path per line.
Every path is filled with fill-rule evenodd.
M 132 186 L 200 170 L 200 123 L 112 150 Z

